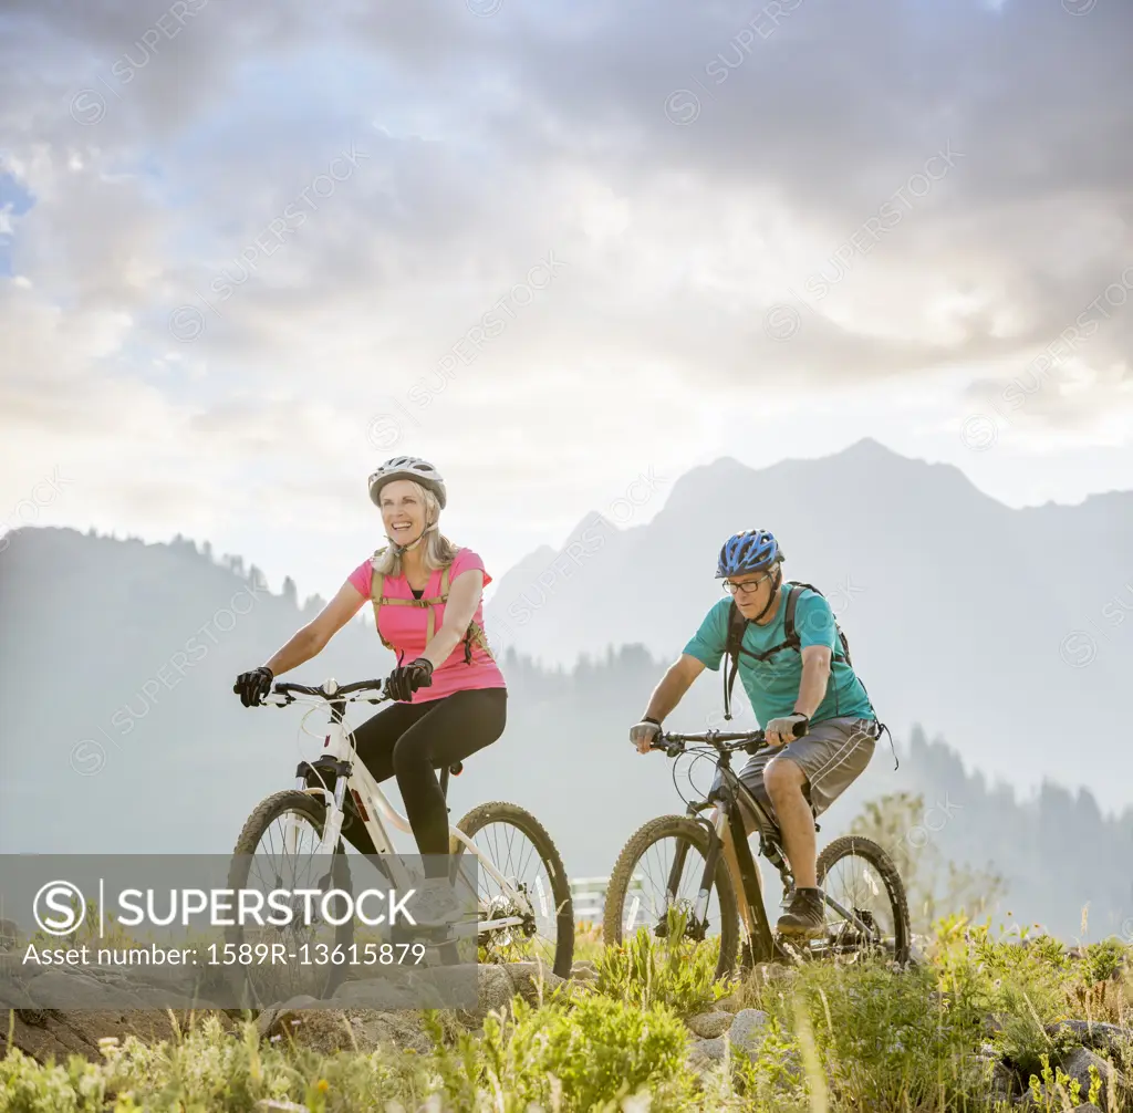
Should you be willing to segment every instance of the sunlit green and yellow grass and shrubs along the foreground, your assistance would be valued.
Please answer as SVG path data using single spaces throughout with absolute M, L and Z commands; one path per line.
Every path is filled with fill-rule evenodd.
M 97 1063 L 9 1051 L 0 1113 L 998 1113 L 1011 1106 L 993 1089 L 993 1052 L 1016 1072 L 1014 1096 L 1030 1089 L 1037 1108 L 1091 1097 L 1121 1107 L 1100 1076 L 1075 1090 L 1058 1067 L 1070 1038 L 1046 1029 L 1067 1018 L 1133 1026 L 1128 948 L 1110 941 L 1072 959 L 1054 940 L 1008 942 L 953 919 L 937 926 L 929 959 L 904 971 L 807 965 L 731 986 L 713 980 L 712 946 L 640 933 L 600 954 L 596 982 L 539 1006 L 516 997 L 483 1034 L 453 1036 L 426 1014 L 429 1054 L 326 1055 L 205 1017 L 153 1046 L 108 1040 Z M 761 1043 L 750 1055 L 725 1043 L 724 1061 L 690 1064 L 682 1018 L 729 991 L 768 1014 Z M 1133 1077 L 1133 1054 L 1113 1059 Z

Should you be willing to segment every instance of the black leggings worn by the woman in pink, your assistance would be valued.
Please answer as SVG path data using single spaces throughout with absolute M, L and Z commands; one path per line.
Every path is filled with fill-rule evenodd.
M 491 746 L 506 720 L 506 688 L 469 688 L 423 704 L 392 704 L 355 729 L 358 757 L 374 780 L 397 776 L 420 853 L 449 853 L 449 809 L 434 770 Z M 353 805 L 344 806 L 342 834 L 359 853 L 375 853 Z M 426 874 L 443 877 L 445 863 L 427 859 Z

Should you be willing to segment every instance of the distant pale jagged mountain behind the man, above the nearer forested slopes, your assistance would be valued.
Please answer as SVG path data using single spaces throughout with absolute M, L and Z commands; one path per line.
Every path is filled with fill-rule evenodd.
M 672 660 L 719 597 L 724 538 L 757 526 L 778 537 L 786 578 L 829 598 L 894 730 L 923 723 L 1023 790 L 1050 778 L 1133 801 L 1131 492 L 1013 509 L 871 440 L 760 470 L 721 459 L 678 479 L 648 524 L 590 515 L 525 558 L 485 625 L 548 664 L 630 644 Z

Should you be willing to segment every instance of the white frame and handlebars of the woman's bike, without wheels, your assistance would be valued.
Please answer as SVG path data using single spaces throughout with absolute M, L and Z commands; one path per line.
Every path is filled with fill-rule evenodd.
M 324 693 L 335 694 L 338 693 L 338 688 L 339 686 L 334 680 L 327 680 L 323 683 Z M 278 694 L 272 694 L 272 696 Z M 406 834 L 412 834 L 412 827 L 409 821 L 390 802 L 378 783 L 370 775 L 369 770 L 361 762 L 357 761 L 357 751 L 355 750 L 352 739 L 353 732 L 347 729 L 344 719 L 346 705 L 348 703 L 366 702 L 376 704 L 382 703 L 383 699 L 363 695 L 297 696 L 289 694 L 288 699 L 279 700 L 273 699 L 272 696 L 266 697 L 263 703 L 272 703 L 274 706 L 282 707 L 288 703 L 298 702 L 306 703 L 312 707 L 329 707 L 331 712 L 329 732 L 323 741 L 323 753 L 314 762 L 300 762 L 296 768 L 296 789 L 310 795 L 322 793 L 324 804 L 326 805 L 323 834 L 314 852 L 316 855 L 333 853 L 342 833 L 342 824 L 346 817 L 343 805 L 346 802 L 346 795 L 349 792 L 358 817 L 361 819 L 363 826 L 366 829 L 366 833 L 374 846 L 375 852 L 383 858 L 387 858 L 385 867 L 389 870 L 390 880 L 401 889 L 408 890 L 412 887 L 414 878 L 397 856 L 382 817 L 384 816 L 394 827 Z M 327 773 L 334 779 L 333 791 L 329 791 L 326 787 L 329 778 L 324 774 Z M 445 770 L 442 776 L 445 787 L 448 785 L 448 776 L 449 770 Z M 312 784 L 313 781 L 317 783 Z M 289 821 L 284 830 L 284 844 L 288 846 L 290 843 L 289 849 L 293 849 L 299 839 L 300 819 L 292 815 L 289 817 Z M 449 835 L 460 842 L 476 857 L 478 868 L 483 869 L 500 886 L 509 900 L 514 901 L 520 908 L 529 907 L 528 898 L 520 893 L 496 869 L 495 864 L 482 853 L 480 849 L 463 831 L 450 824 Z M 542 892 L 538 878 L 536 878 L 536 885 L 539 890 L 537 897 L 545 907 L 547 898 Z M 480 933 L 503 927 L 518 927 L 522 923 L 522 917 L 508 916 L 499 919 L 478 920 L 476 927 L 477 932 Z

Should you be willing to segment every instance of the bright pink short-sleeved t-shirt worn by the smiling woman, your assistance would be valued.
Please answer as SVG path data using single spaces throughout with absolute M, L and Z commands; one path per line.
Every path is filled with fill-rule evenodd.
M 373 558 L 365 560 L 348 577 L 349 581 L 369 598 L 370 587 L 374 581 Z M 492 583 L 492 577 L 484 569 L 484 561 L 470 549 L 461 549 L 457 553 L 457 559 L 449 570 L 449 591 L 461 572 L 469 569 L 479 569 L 484 572 L 484 586 Z M 386 576 L 382 593 L 389 598 L 414 597 L 412 589 L 404 576 Z M 436 598 L 441 594 L 441 569 L 433 570 L 428 578 L 428 586 L 425 588 L 421 598 Z M 433 606 L 433 634 L 435 635 L 444 622 L 444 604 L 437 603 Z M 484 601 L 476 606 L 474 621 L 483 629 L 484 627 Z M 414 657 L 419 657 L 425 652 L 425 639 L 428 629 L 428 610 L 424 606 L 391 606 L 384 603 L 381 610 L 381 631 L 390 645 L 398 651 L 399 660 L 408 664 Z M 465 643 L 457 644 L 457 648 L 449 655 L 448 661 L 440 668 L 433 670 L 433 683 L 428 688 L 418 688 L 410 700 L 415 704 L 427 703 L 431 699 L 443 699 L 454 691 L 462 691 L 466 688 L 505 688 L 506 683 L 499 665 L 484 652 L 474 640 L 471 643 L 471 664 L 465 663 Z

